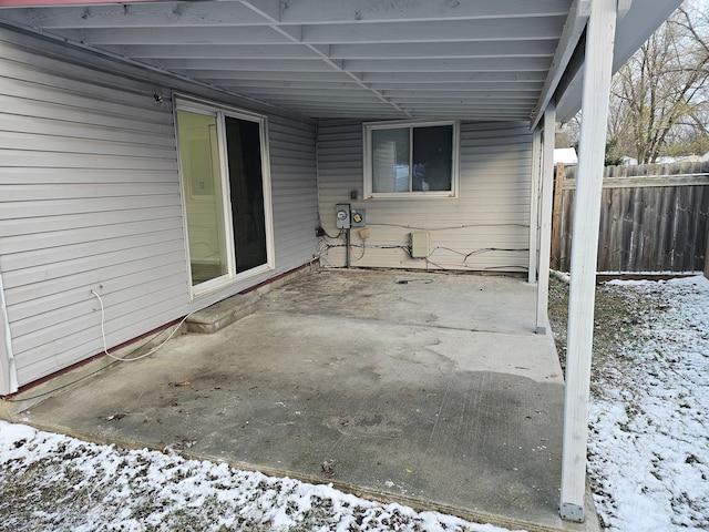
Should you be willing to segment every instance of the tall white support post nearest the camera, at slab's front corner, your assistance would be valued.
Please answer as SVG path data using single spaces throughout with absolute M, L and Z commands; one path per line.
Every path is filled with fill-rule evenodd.
M 574 229 L 566 349 L 566 395 L 559 512 L 584 520 L 588 393 L 594 332 L 598 222 L 608 120 L 608 94 L 617 0 L 592 0 L 586 32 L 580 145 Z

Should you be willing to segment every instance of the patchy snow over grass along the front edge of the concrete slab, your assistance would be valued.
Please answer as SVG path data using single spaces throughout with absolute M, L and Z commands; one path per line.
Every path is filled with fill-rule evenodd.
M 503 532 L 226 463 L 0 421 L 0 530 Z

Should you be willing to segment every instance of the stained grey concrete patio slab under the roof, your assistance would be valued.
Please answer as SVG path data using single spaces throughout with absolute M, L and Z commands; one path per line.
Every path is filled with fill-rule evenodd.
M 16 420 L 510 529 L 558 516 L 564 383 L 512 277 L 319 270 Z

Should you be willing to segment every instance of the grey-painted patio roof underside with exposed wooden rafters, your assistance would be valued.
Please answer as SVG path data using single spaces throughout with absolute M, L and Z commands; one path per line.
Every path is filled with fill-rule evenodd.
M 552 98 L 562 121 L 580 106 L 589 4 L 0 0 L 0 23 L 312 117 L 536 123 Z M 678 4 L 620 0 L 614 66 Z

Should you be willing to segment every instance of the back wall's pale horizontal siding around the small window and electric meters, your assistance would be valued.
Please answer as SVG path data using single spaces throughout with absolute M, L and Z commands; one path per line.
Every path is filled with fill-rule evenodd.
M 335 205 L 366 209 L 366 243 L 351 231 L 351 266 L 526 272 L 533 135 L 526 122 L 461 124 L 460 193 L 455 198 L 350 200 L 363 186 L 362 122 L 318 124 L 322 227 L 336 236 Z M 428 231 L 428 258 L 411 258 L 412 231 Z M 343 238 L 323 238 L 321 262 L 343 266 Z M 364 244 L 364 247 L 362 247 Z

